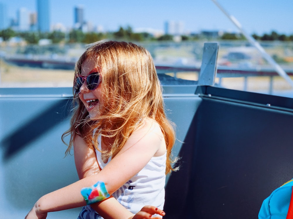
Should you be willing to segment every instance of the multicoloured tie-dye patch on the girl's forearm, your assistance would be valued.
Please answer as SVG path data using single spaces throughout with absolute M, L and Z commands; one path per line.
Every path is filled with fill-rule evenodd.
M 98 181 L 95 185 L 85 187 L 81 189 L 81 195 L 86 200 L 86 204 L 90 205 L 98 201 L 102 201 L 110 197 L 110 194 L 106 190 L 105 183 Z

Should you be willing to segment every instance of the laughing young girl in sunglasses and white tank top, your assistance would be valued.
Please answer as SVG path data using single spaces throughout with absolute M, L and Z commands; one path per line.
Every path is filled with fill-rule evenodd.
M 92 44 L 76 63 L 74 101 L 63 137 L 71 135 L 67 154 L 73 146 L 80 180 L 41 197 L 26 218 L 80 206 L 85 219 L 163 216 L 175 133 L 149 52 Z

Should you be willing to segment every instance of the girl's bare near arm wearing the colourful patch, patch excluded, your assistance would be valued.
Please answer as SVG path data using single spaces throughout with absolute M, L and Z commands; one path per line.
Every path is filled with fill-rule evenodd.
M 112 194 L 138 173 L 161 150 L 163 136 L 158 124 L 147 121 L 127 140 L 122 150 L 98 174 L 87 176 L 76 183 L 68 185 L 41 197 L 34 206 L 34 211 L 46 214 L 86 205 L 80 191 L 98 181 L 105 183 Z M 164 143 L 164 142 L 163 142 Z M 101 203 L 100 203 L 101 204 Z

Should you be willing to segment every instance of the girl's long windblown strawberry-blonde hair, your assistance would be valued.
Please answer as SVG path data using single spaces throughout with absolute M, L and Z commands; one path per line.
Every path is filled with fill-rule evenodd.
M 174 127 L 164 112 L 162 88 L 150 53 L 132 43 L 96 42 L 77 61 L 75 79 L 81 74 L 86 59 L 94 60 L 101 71 L 103 107 L 97 118 L 89 119 L 86 107 L 74 93 L 71 126 L 62 135 L 63 140 L 71 135 L 66 154 L 70 153 L 77 133 L 95 148 L 100 134 L 112 139 L 113 145 L 106 156 L 115 157 L 142 121 L 151 118 L 160 125 L 166 141 L 166 174 L 174 170 L 171 154 L 175 142 Z M 99 131 L 93 135 L 95 129 Z

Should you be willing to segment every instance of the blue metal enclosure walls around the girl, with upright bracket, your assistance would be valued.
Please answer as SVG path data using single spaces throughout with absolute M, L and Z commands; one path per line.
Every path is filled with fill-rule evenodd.
M 207 47 L 196 84 L 163 85 L 180 157 L 167 178 L 164 218 L 257 218 L 262 201 L 293 178 L 293 99 L 215 86 L 218 46 Z M 0 88 L 5 218 L 23 217 L 42 194 L 78 180 L 60 139 L 71 100 L 71 88 Z

